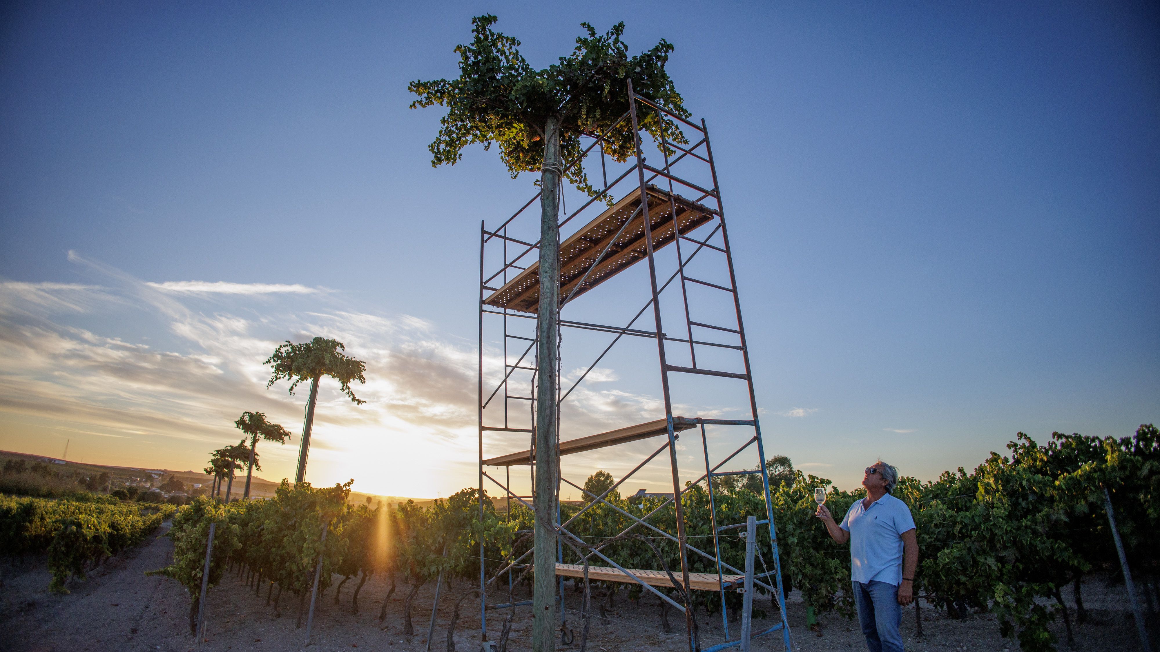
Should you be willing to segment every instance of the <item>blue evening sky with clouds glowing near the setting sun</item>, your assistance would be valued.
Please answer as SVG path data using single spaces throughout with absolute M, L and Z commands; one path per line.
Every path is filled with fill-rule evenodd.
M 368 403 L 324 382 L 309 480 L 474 485 L 479 223 L 534 179 L 480 146 L 432 167 L 442 110 L 409 109 L 406 87 L 455 77 L 483 13 L 537 67 L 583 21 L 624 21 L 633 52 L 675 45 L 668 71 L 712 133 L 767 455 L 851 488 L 879 457 L 929 480 L 1020 432 L 1160 419 L 1153 6 L 706 7 L 6 3 L 0 449 L 196 470 L 262 411 L 296 436 L 259 445 L 259 474 L 292 477 L 306 392 L 268 389 L 262 361 L 324 335 L 367 362 Z M 641 269 L 578 310 L 631 314 Z M 577 378 L 599 342 L 565 342 Z M 578 387 L 565 436 L 664 415 L 639 343 Z M 486 341 L 485 368 L 500 356 Z M 651 450 L 565 471 L 619 477 Z

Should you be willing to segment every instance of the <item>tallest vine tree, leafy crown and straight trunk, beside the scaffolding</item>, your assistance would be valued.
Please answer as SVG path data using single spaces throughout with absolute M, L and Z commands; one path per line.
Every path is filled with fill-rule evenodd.
M 673 80 L 665 71 L 673 45 L 661 39 L 651 50 L 630 57 L 621 39 L 624 23 L 587 35 L 558 64 L 536 70 L 520 55 L 520 42 L 492 29 L 492 15 L 472 19 L 473 39 L 459 45 L 459 77 L 413 81 L 419 96 L 411 106 L 448 109 L 430 144 L 433 166 L 455 165 L 463 148 L 479 143 L 499 144 L 500 159 L 512 176 L 539 172 L 539 307 L 536 374 L 536 534 L 532 650 L 554 650 L 556 530 L 552 517 L 558 500 L 556 450 L 557 319 L 559 311 L 559 183 L 567 179 L 596 196 L 580 165 L 582 136 L 603 136 L 603 151 L 624 161 L 636 153 L 637 130 L 670 142 L 687 140 L 667 118 L 637 104 L 636 121 L 619 119 L 629 111 L 628 88 L 688 116 Z M 604 197 L 609 200 L 610 197 Z

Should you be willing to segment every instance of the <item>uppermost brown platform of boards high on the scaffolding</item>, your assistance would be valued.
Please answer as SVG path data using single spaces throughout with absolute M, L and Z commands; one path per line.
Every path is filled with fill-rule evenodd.
M 647 188 L 653 251 L 660 249 L 674 240 L 673 207 L 676 208 L 676 224 L 682 236 L 713 217 L 713 210 L 710 208 L 676 194 L 669 195 L 668 190 L 652 184 Z M 621 231 L 621 226 L 632 217 L 639 207 L 640 189 L 637 188 L 560 242 L 560 300 L 571 295 L 581 280 L 583 280 L 583 285 L 577 290 L 575 296 L 587 292 L 647 255 L 645 220 L 643 216 L 637 215 L 632 223 L 621 232 L 621 237 L 616 238 L 616 241 L 608 248 L 608 253 L 604 254 L 600 265 L 587 277 L 585 276 L 604 247 Z M 536 312 L 539 306 L 539 262 L 531 263 L 515 278 L 487 297 L 484 303 L 501 309 Z

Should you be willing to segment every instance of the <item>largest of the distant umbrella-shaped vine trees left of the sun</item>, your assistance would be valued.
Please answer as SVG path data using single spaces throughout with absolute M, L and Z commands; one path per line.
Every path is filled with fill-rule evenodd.
M 269 389 L 274 383 L 285 378 L 290 381 L 290 393 L 299 383 L 310 381 L 310 398 L 306 399 L 306 418 L 302 426 L 302 447 L 298 452 L 298 472 L 295 474 L 295 483 L 306 479 L 306 455 L 310 452 L 310 432 L 314 425 L 314 404 L 318 401 L 318 382 L 322 376 L 329 376 L 342 386 L 342 393 L 355 403 L 362 405 L 367 403 L 355 396 L 350 389 L 353 381 L 365 384 L 367 378 L 363 371 L 367 363 L 355 360 L 340 352 L 346 350 L 346 346 L 338 340 L 326 338 L 314 338 L 313 340 L 295 345 L 289 340 L 274 349 L 274 354 L 263 364 L 274 368 L 270 382 L 266 384 Z

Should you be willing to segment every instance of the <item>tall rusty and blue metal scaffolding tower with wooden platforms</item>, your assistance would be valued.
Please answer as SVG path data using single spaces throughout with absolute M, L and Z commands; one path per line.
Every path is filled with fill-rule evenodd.
M 573 391 L 597 369 L 597 364 L 610 360 L 608 354 L 617 343 L 623 350 L 629 342 L 648 345 L 646 340 L 655 341 L 655 371 L 659 372 L 659 386 L 662 394 L 664 413 L 654 413 L 653 419 L 643 423 L 630 425 L 597 434 L 583 434 L 565 439 L 561 434 L 558 441 L 558 455 L 568 456 L 593 451 L 607 447 L 624 445 L 631 442 L 645 441 L 652 437 L 665 437 L 664 443 L 631 471 L 624 473 L 617 481 L 600 495 L 588 492 L 580 484 L 570 479 L 560 468 L 560 485 L 566 484 L 587 495 L 587 505 L 581 509 L 604 504 L 631 521 L 631 526 L 622 534 L 639 528 L 657 538 L 668 539 L 676 544 L 680 557 L 680 568 L 669 572 L 659 568 L 626 568 L 602 551 L 601 545 L 588 548 L 586 558 L 589 562 L 588 575 L 592 580 L 636 584 L 644 592 L 651 592 L 659 599 L 686 616 L 689 650 L 713 652 L 739 646 L 749 649 L 749 640 L 759 636 L 782 632 L 785 650 L 790 650 L 789 624 L 785 620 L 785 599 L 782 589 L 781 559 L 777 551 L 777 529 L 774 524 L 773 502 L 769 493 L 769 474 L 766 469 L 764 443 L 761 437 L 761 426 L 757 414 L 757 401 L 753 387 L 753 375 L 749 367 L 749 354 L 746 345 L 745 326 L 741 319 L 741 303 L 738 296 L 733 258 L 730 249 L 728 234 L 725 226 L 725 209 L 722 202 L 720 188 L 717 182 L 717 171 L 713 165 L 712 148 L 705 121 L 695 123 L 676 115 L 660 103 L 628 89 L 629 110 L 608 131 L 590 138 L 582 151 L 580 160 L 567 161 L 567 166 L 585 166 L 589 179 L 597 179 L 595 196 L 582 197 L 580 208 L 571 215 L 561 213 L 560 226 L 560 313 L 559 327 L 563 331 L 574 331 L 580 334 L 611 336 L 611 341 L 595 355 L 595 360 L 586 367 L 577 369 L 574 382 L 567 390 L 557 383 L 557 433 L 571 432 L 568 419 L 560 416 L 560 407 L 573 396 Z M 654 111 L 660 122 L 666 125 L 660 130 L 660 143 L 645 144 L 639 137 L 638 121 L 648 111 Z M 629 121 L 636 137 L 636 151 L 625 162 L 617 164 L 604 151 L 604 139 L 614 130 Z M 648 147 L 646 152 L 646 147 Z M 660 166 L 646 162 L 646 155 L 661 159 Z M 597 160 L 599 159 L 599 160 Z M 635 174 L 633 174 L 635 173 Z M 611 176 L 611 180 L 610 180 Z M 563 178 L 563 175 L 561 175 Z M 614 195 L 615 191 L 615 195 Z M 679 194 L 680 193 L 680 194 Z M 683 194 L 683 195 L 682 195 Z M 563 195 L 563 193 L 561 193 Z M 695 198 L 688 198 L 689 196 Z M 618 198 L 616 198 L 618 197 Z M 538 233 L 539 211 L 528 211 L 538 205 L 539 195 L 529 200 L 523 207 L 496 226 L 488 229 L 486 220 L 480 225 L 479 242 L 479 490 L 480 509 L 483 494 L 494 485 L 503 492 L 508 500 L 515 500 L 531 508 L 530 495 L 519 495 L 513 490 L 512 466 L 531 468 L 535 472 L 534 451 L 534 415 L 535 415 L 535 375 L 536 375 L 536 311 L 539 303 L 538 275 Z M 566 198 L 564 200 L 566 203 Z M 593 217 L 593 213 L 597 213 Z M 585 222 L 585 218 L 589 218 Z M 571 230 L 571 233 L 568 231 Z M 647 274 L 635 263 L 647 261 Z M 632 270 L 632 271 L 630 271 Z M 624 326 L 610 325 L 608 319 L 601 319 L 616 312 L 625 302 L 597 302 L 592 294 L 597 285 L 612 282 L 628 291 L 633 285 L 640 285 L 643 276 L 647 277 L 648 292 L 644 305 L 633 312 L 626 312 Z M 696 276 L 694 276 L 696 274 Z M 587 297 L 583 302 L 577 302 Z M 577 302 L 577 303 L 573 303 Z M 565 311 L 564 309 L 568 309 Z M 573 312 L 581 312 L 580 319 Z M 646 317 L 647 313 L 647 317 Z M 595 317 L 583 317 L 595 314 Z M 648 317 L 652 324 L 648 325 Z M 641 319 L 644 318 L 644 319 Z M 664 324 L 679 324 L 679 333 L 668 333 Z M 641 321 L 638 324 L 638 321 Z M 487 339 L 485 339 L 485 336 Z M 502 368 L 488 356 L 485 361 L 485 345 L 491 343 L 496 356 L 502 357 Z M 595 347 L 593 350 L 599 349 Z M 651 347 L 648 347 L 651 348 Z M 647 350 L 647 349 L 646 349 Z M 636 350 L 639 355 L 640 352 Z M 631 354 L 630 354 L 631 355 Z M 561 360 L 558 355 L 557 360 Z M 637 361 L 638 362 L 638 361 Z M 485 369 L 491 365 L 494 369 Z M 563 362 L 557 369 L 558 378 L 563 376 Z M 651 365 L 651 364 L 650 364 Z M 640 372 L 640 364 L 633 365 L 635 372 Z M 657 378 L 657 376 L 653 376 Z M 568 376 L 568 379 L 572 379 Z M 717 404 L 745 405 L 735 416 L 725 419 L 722 410 L 703 410 L 697 403 L 705 398 L 716 399 Z M 735 397 L 733 399 L 732 397 Z M 689 410 L 679 415 L 674 410 Z M 660 407 L 660 406 L 658 406 Z M 658 411 L 659 412 L 659 411 Z M 728 410 L 724 411 L 727 415 Z M 747 412 L 747 414 L 746 414 Z M 573 428 L 574 430 L 574 428 Z M 699 477 L 688 478 L 688 486 L 682 484 L 677 464 L 677 441 L 682 433 L 693 434 L 684 441 L 686 452 L 699 449 L 696 454 L 703 459 L 704 471 L 697 471 Z M 573 433 L 574 434 L 574 433 Z M 520 445 L 529 442 L 528 448 Z M 638 447 L 629 447 L 636 449 Z M 668 466 L 672 477 L 672 494 L 667 494 L 660 507 L 643 517 L 632 515 L 611 502 L 606 501 L 610 492 L 617 490 L 629 478 L 647 464 L 668 452 Z M 756 464 L 744 464 L 744 452 L 756 454 Z M 582 458 L 583 456 L 581 456 Z M 720 459 L 713 462 L 713 459 Z M 574 459 L 574 458 L 573 458 Z M 664 462 L 664 457 L 659 459 Z M 755 466 L 752 469 L 734 469 L 735 466 Z M 503 470 L 503 477 L 494 468 Z M 592 469 L 589 465 L 588 469 Z M 734 470 L 731 470 L 734 469 Z M 570 470 L 574 472 L 577 469 Z M 715 502 L 713 481 L 723 476 L 760 474 L 764 498 L 764 514 L 749 515 L 747 522 L 718 523 L 718 508 Z M 667 480 L 666 480 L 667 481 Z M 709 488 L 709 508 L 712 524 L 712 546 L 697 542 L 689 543 L 686 536 L 686 522 L 681 495 L 693 486 L 705 483 Z M 559 493 L 559 490 L 557 490 Z M 650 517 L 660 514 L 672 505 L 676 515 L 676 533 L 667 533 L 650 523 Z M 509 512 L 510 513 L 510 512 Z M 573 531 L 577 516 L 560 522 L 560 507 L 557 502 L 556 521 L 553 523 L 560 537 L 583 539 L 585 533 Z M 755 550 L 755 526 L 767 527 L 769 531 L 769 550 L 773 568 L 756 572 L 754 553 L 762 559 L 761 550 Z M 746 539 L 745 568 L 726 564 L 722 559 L 722 537 L 730 530 L 745 528 Z M 566 618 L 563 592 L 563 578 L 582 577 L 583 566 L 564 564 L 564 546 L 557 546 L 557 604 L 561 618 Z M 523 556 L 509 560 L 490 580 L 485 572 L 484 548 L 480 543 L 480 626 L 483 638 L 487 640 L 487 610 L 495 608 L 514 608 L 530 602 L 490 604 L 487 602 L 487 585 L 508 574 L 512 568 L 531 556 L 531 550 Z M 615 555 L 615 553 L 614 553 Z M 708 559 L 716 568 L 715 573 L 693 573 L 689 571 L 689 557 L 698 556 Z M 607 565 L 595 565 L 607 564 Z M 689 588 L 694 591 L 711 591 L 720 594 L 722 623 L 725 640 L 703 643 L 694 622 L 693 604 L 689 591 L 679 591 L 681 602 L 658 591 L 657 587 Z M 752 631 L 752 608 L 756 587 L 770 592 L 776 601 L 780 622 L 763 631 Z M 739 637 L 730 636 L 728 613 L 725 604 L 725 593 L 741 591 L 742 611 L 740 614 L 741 631 Z

